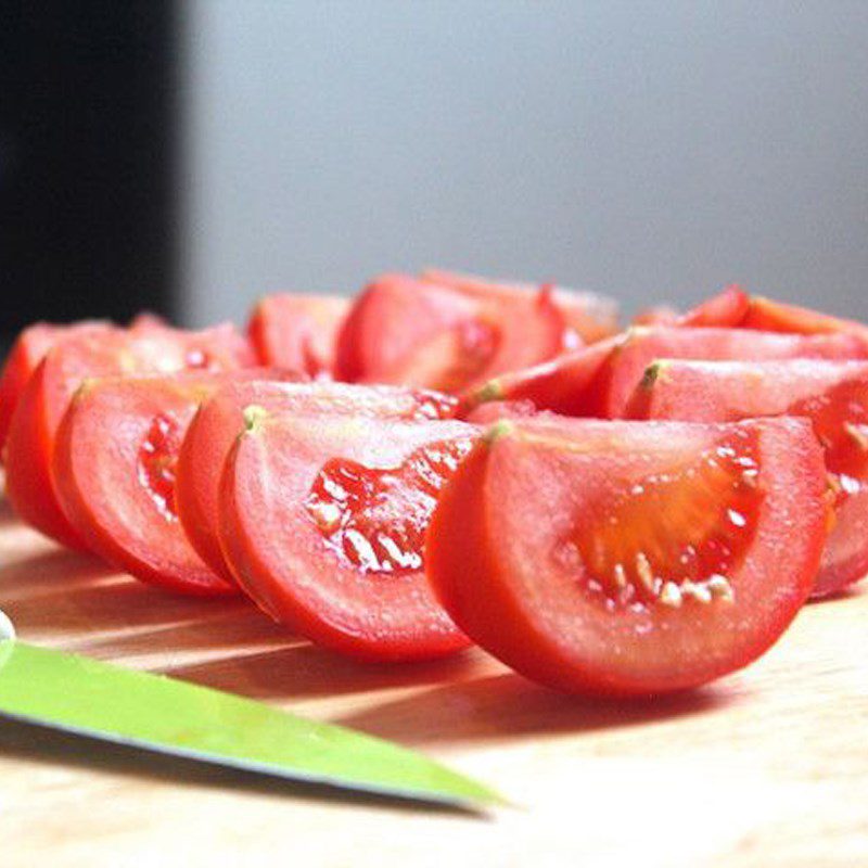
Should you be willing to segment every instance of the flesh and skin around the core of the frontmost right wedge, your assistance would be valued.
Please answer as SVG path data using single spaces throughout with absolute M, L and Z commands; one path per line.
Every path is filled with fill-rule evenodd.
M 735 431 L 756 437 L 764 499 L 731 579 L 735 602 L 726 605 L 733 608 L 658 605 L 650 614 L 591 608 L 577 567 L 549 557 L 559 528 L 531 516 L 545 510 L 557 523 L 574 514 L 563 512 L 567 503 L 582 515 L 587 482 L 612 485 L 654 448 L 674 459 L 667 441 L 713 443 L 715 432 Z M 819 563 L 824 488 L 822 454 L 803 420 L 729 426 L 515 420 L 489 430 L 442 492 L 426 534 L 427 575 L 468 636 L 533 680 L 618 697 L 688 689 L 755 660 L 795 616 Z

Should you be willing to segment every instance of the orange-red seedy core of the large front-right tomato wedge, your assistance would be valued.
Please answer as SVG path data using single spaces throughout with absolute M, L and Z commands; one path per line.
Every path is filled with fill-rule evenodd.
M 763 501 L 758 472 L 751 441 L 728 438 L 591 502 L 557 556 L 608 609 L 731 602 Z

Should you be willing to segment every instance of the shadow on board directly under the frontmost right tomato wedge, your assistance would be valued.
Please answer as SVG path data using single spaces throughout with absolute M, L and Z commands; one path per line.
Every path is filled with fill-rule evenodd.
M 639 700 L 570 697 L 505 672 L 443 685 L 333 723 L 409 745 L 456 744 L 637 726 L 705 714 L 733 701 L 738 697 L 719 687 Z

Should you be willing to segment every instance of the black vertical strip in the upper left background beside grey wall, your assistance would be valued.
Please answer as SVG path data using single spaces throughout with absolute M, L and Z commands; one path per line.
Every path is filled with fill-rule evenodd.
M 0 333 L 170 315 L 176 34 L 168 0 L 0 0 Z

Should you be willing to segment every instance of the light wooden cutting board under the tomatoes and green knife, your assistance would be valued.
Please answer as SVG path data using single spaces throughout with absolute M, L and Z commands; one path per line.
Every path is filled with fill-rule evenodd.
M 23 639 L 170 673 L 429 752 L 521 807 L 480 819 L 335 796 L 0 723 L 0 863 L 17 866 L 868 865 L 868 593 L 810 605 L 703 691 L 570 699 L 482 652 L 363 666 L 243 602 L 169 597 L 0 505 Z

